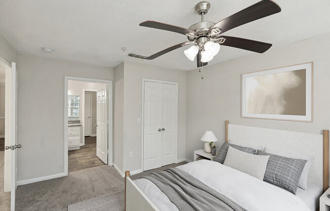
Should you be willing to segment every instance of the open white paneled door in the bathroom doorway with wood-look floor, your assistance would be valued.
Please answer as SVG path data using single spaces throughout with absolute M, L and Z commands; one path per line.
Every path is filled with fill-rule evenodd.
M 107 88 L 97 90 L 96 156 L 108 164 L 108 97 Z

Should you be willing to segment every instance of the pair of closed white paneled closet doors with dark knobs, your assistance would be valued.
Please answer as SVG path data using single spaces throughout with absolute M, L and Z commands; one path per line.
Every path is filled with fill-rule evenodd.
M 176 161 L 177 87 L 144 82 L 143 170 Z

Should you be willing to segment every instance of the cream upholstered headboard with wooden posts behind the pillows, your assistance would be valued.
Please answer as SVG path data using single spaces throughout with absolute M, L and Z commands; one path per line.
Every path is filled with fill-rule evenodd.
M 322 134 L 293 132 L 229 124 L 226 121 L 226 142 L 241 146 L 263 146 L 265 152 L 277 155 L 314 156 L 308 181 L 323 188 L 329 184 L 329 131 Z

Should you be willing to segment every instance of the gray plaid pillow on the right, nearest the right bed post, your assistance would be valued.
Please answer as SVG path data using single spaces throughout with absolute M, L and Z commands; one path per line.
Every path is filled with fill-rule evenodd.
M 270 155 L 264 181 L 296 194 L 301 173 L 307 160 L 272 155 L 258 150 L 257 155 Z

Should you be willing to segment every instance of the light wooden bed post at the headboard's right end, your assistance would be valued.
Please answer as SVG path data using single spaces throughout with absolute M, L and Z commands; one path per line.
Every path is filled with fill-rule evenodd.
M 323 192 L 329 187 L 329 130 L 323 130 Z

